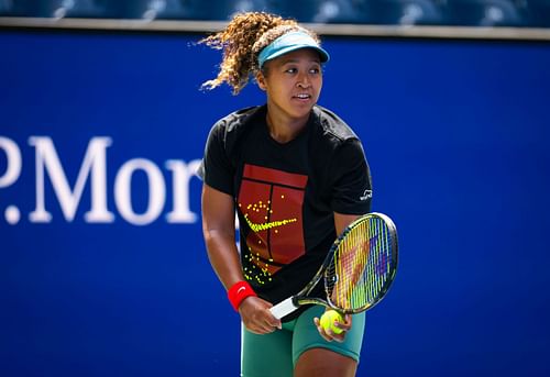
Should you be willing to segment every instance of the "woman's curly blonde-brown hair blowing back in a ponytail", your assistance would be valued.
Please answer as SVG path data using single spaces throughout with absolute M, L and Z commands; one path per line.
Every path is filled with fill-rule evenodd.
M 233 88 L 233 95 L 238 95 L 250 76 L 260 69 L 260 52 L 280 35 L 293 31 L 306 32 L 320 42 L 316 33 L 304 29 L 296 20 L 265 12 L 238 13 L 224 30 L 199 41 L 209 47 L 223 49 L 218 76 L 204 82 L 202 88 L 213 89 L 227 82 Z

